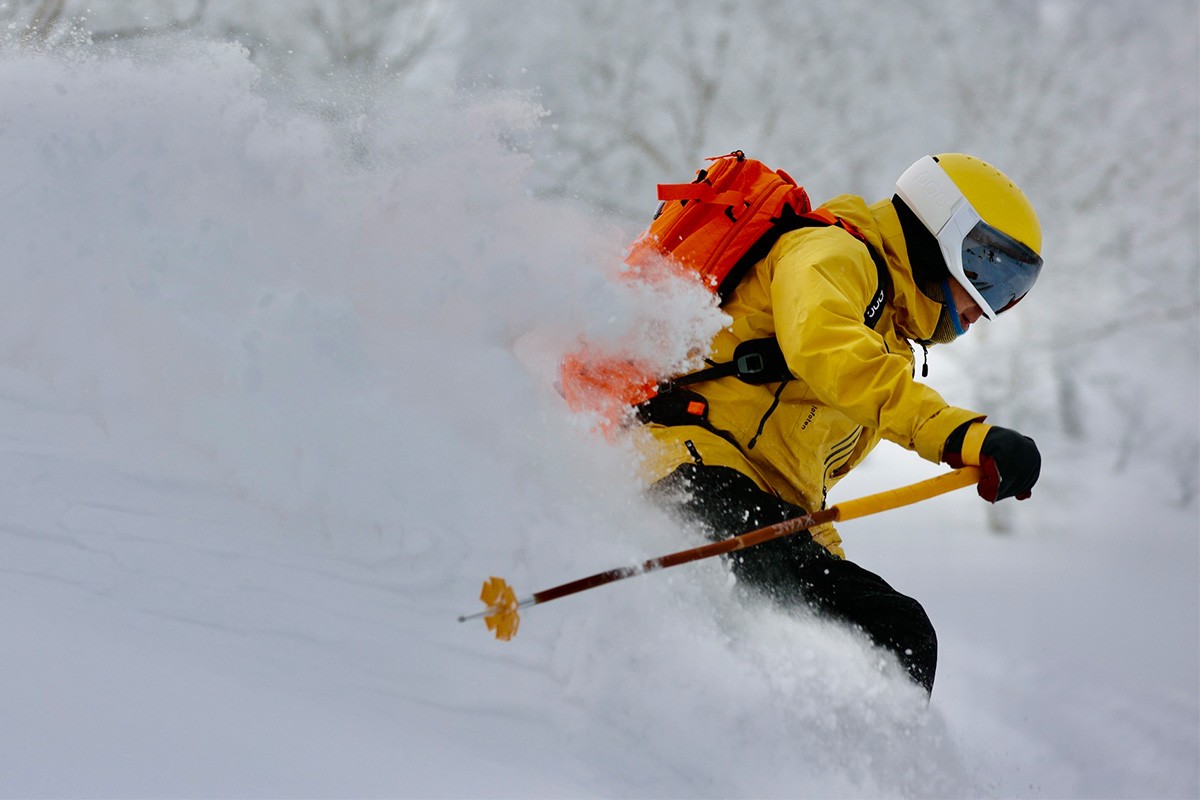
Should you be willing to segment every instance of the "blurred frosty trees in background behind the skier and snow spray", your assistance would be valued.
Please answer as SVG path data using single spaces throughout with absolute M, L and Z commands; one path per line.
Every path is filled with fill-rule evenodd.
M 1046 269 L 935 357 L 994 421 L 1200 493 L 1195 0 L 7 0 L 0 23 L 6 48 L 236 41 L 361 163 L 394 144 L 385 95 L 520 92 L 546 113 L 512 143 L 533 188 L 630 233 L 656 182 L 733 149 L 817 201 L 972 152 L 1033 200 Z

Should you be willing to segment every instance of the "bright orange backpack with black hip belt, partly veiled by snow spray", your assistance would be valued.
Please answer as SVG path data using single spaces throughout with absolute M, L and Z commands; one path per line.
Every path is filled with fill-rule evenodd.
M 750 267 L 766 258 L 779 236 L 788 230 L 839 225 L 863 239 L 850 223 L 823 209 L 814 210 L 804 187 L 787 173 L 748 158 L 740 150 L 708 161 L 712 164 L 698 170 L 691 184 L 659 185 L 662 204 L 625 259 L 634 267 L 631 275 L 638 276 L 667 259 L 683 272 L 696 276 L 724 302 Z M 877 258 L 876 264 L 881 264 Z M 882 269 L 880 275 L 882 293 Z M 874 320 L 864 321 L 874 326 Z M 767 349 L 754 347 L 742 353 L 739 348 L 728 365 L 712 365 L 698 373 L 662 381 L 644 365 L 598 356 L 584 347 L 564 359 L 560 389 L 572 410 L 596 411 L 616 425 L 628 417 L 631 408 L 660 397 L 668 387 L 724 375 L 748 383 L 786 381 L 791 374 L 782 363 L 782 354 L 776 353 L 778 344 L 770 339 Z M 698 417 L 707 411 L 707 404 L 697 405 L 703 398 L 694 392 L 678 399 L 684 416 Z

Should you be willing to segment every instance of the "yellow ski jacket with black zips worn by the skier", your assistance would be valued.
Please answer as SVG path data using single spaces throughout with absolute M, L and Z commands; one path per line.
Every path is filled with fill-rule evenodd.
M 887 261 L 890 288 L 878 323 L 871 329 L 863 321 L 878 272 L 862 241 L 835 227 L 784 234 L 726 301 L 733 324 L 713 339 L 709 357 L 730 361 L 739 343 L 774 336 L 796 379 L 784 385 L 769 414 L 778 383 L 756 386 L 727 377 L 689 386 L 708 401 L 712 426 L 728 435 L 691 425 L 646 426 L 649 480 L 701 459 L 732 467 L 815 511 L 881 438 L 936 463 L 954 428 L 984 419 L 947 404 L 913 378 L 910 342 L 934 335 L 941 303 L 913 281 L 892 201 L 868 206 L 859 197 L 841 196 L 823 207 L 857 227 Z M 832 527 L 812 533 L 845 555 Z

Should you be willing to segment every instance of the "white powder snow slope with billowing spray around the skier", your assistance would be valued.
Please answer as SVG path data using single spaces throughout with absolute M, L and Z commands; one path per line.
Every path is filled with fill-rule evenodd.
M 1082 445 L 1013 534 L 970 492 L 844 527 L 938 627 L 931 704 L 712 561 L 455 621 L 698 541 L 547 375 L 718 318 L 522 187 L 536 118 L 392 98 L 355 163 L 236 48 L 0 59 L 0 795 L 1200 794 L 1195 503 Z

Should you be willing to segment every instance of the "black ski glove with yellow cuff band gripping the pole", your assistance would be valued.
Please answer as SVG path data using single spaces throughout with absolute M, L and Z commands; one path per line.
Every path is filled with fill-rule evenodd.
M 1042 453 L 1033 439 L 983 422 L 966 422 L 955 428 L 946 439 L 942 461 L 955 469 L 979 467 L 983 470 L 979 497 L 988 503 L 1028 499 L 1042 473 Z

